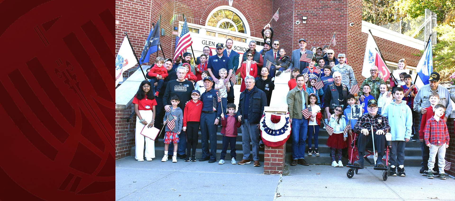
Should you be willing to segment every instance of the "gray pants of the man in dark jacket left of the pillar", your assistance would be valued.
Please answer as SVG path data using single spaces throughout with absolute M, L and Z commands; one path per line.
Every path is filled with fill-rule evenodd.
M 243 159 L 250 159 L 250 142 L 253 144 L 253 161 L 259 160 L 259 134 L 257 123 L 248 123 L 248 119 L 244 119 L 242 124 L 242 151 Z

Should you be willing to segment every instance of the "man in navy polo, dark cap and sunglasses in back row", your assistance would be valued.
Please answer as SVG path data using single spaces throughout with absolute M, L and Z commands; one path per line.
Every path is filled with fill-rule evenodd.
M 227 77 L 224 79 L 224 81 L 229 82 L 229 76 L 232 74 L 232 71 L 234 69 L 232 59 L 223 54 L 223 44 L 218 43 L 216 47 L 217 55 L 213 55 L 208 58 L 208 73 L 210 74 L 210 77 L 212 77 L 213 81 L 215 83 L 218 83 L 218 79 L 220 78 L 220 75 L 218 74 L 219 70 L 226 69 Z

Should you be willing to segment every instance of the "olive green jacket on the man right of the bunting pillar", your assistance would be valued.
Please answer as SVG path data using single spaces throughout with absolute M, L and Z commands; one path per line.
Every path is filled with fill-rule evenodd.
M 303 90 L 303 95 L 305 96 L 305 105 L 308 108 L 310 103 L 308 92 Z M 288 92 L 286 102 L 288 103 L 289 118 L 302 119 L 302 92 L 297 87 Z

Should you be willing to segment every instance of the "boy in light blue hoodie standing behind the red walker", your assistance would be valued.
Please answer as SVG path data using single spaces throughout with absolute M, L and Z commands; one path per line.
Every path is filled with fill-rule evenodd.
M 389 103 L 382 115 L 389 118 L 390 133 L 392 134 L 392 151 L 390 152 L 390 176 L 406 176 L 404 171 L 404 147 L 411 138 L 412 111 L 402 100 L 403 88 L 395 88 L 395 100 Z M 396 169 L 398 166 L 398 170 Z

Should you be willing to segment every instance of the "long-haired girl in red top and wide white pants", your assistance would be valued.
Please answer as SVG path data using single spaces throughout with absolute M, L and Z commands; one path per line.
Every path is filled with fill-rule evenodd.
M 155 106 L 157 101 L 153 92 L 151 92 L 149 81 L 142 81 L 136 96 L 134 96 L 134 112 L 136 112 L 136 160 L 144 161 L 144 141 L 145 141 L 145 158 L 152 161 L 155 157 L 155 141 L 141 134 L 144 127 L 152 127 L 155 124 Z

